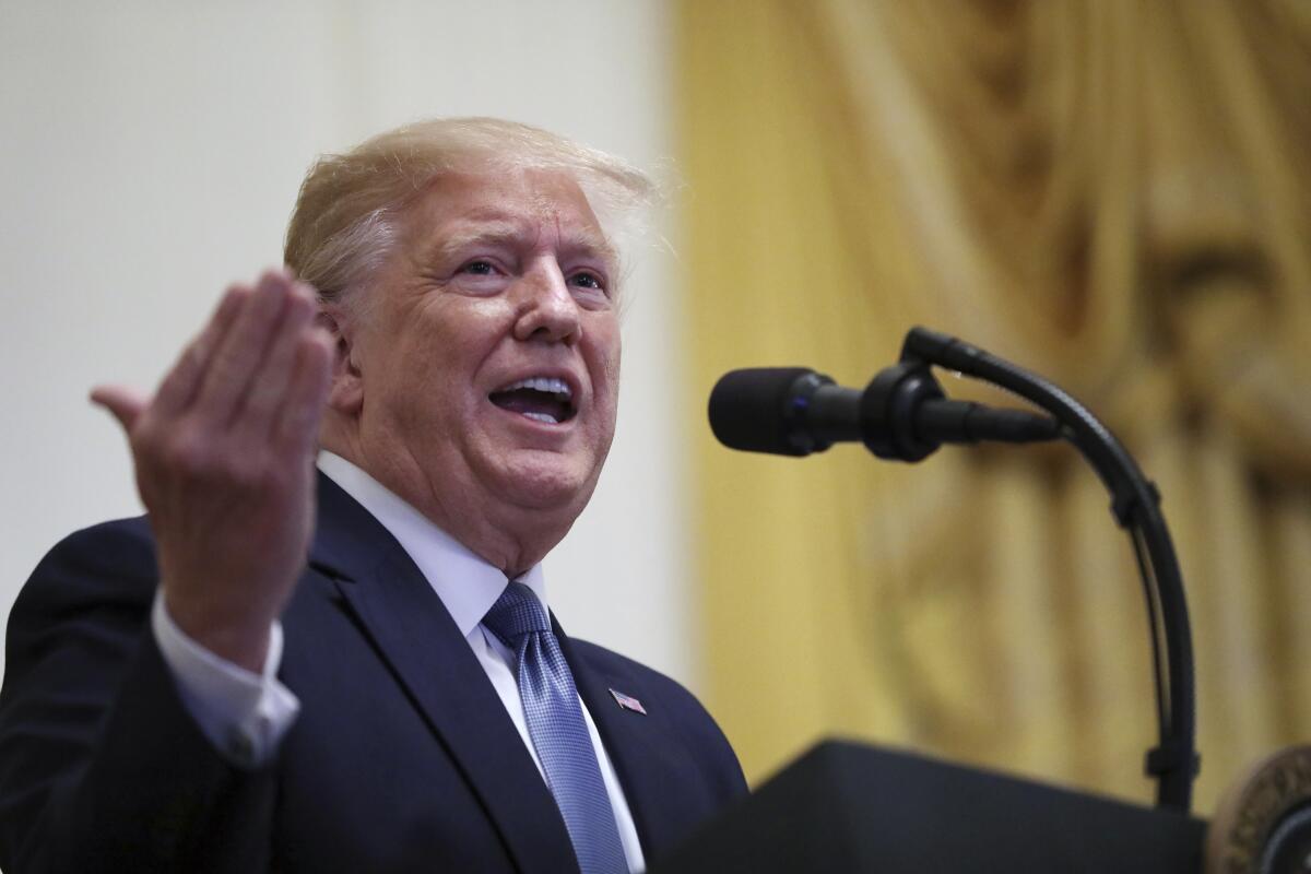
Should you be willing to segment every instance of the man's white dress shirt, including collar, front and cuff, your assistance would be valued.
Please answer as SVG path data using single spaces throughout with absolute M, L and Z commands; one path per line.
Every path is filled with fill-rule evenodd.
M 422 571 L 492 680 L 541 772 L 541 761 L 528 735 L 528 722 L 519 698 L 514 653 L 482 626 L 482 617 L 509 582 L 505 574 L 341 456 L 321 452 L 319 469 L 372 514 Z M 547 591 L 541 565 L 528 570 L 519 582 L 532 590 L 545 609 Z M 187 637 L 168 615 L 163 595 L 155 599 L 151 625 L 164 662 L 177 679 L 184 704 L 210 742 L 237 765 L 257 767 L 267 761 L 300 712 L 296 696 L 277 677 L 282 659 L 281 624 L 273 625 L 269 656 L 261 674 L 222 659 Z M 615 811 L 628 870 L 636 874 L 645 867 L 645 860 L 632 811 L 619 786 L 615 767 L 600 743 L 597 723 L 581 698 L 578 704 L 587 722 L 587 734 L 597 752 L 610 806 Z

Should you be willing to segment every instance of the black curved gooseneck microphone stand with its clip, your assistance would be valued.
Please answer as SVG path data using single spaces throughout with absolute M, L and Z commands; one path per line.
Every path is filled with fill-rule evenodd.
M 1059 387 L 924 328 L 912 328 L 906 334 L 901 363 L 876 376 L 867 389 L 868 406 L 863 404 L 863 411 L 886 415 L 894 431 L 906 435 L 893 444 L 871 444 L 876 455 L 918 461 L 937 448 L 932 440 L 915 440 L 907 426 L 907 411 L 914 409 L 916 398 L 926 390 L 929 396 L 935 393 L 929 364 L 998 385 L 1050 413 L 1061 425 L 1061 436 L 1079 449 L 1110 493 L 1112 515 L 1129 532 L 1134 546 L 1151 628 L 1159 743 L 1147 751 L 1146 772 L 1158 781 L 1156 806 L 1186 814 L 1200 768 L 1193 643 L 1184 580 L 1160 512 L 1160 494 L 1110 430 Z M 940 389 L 936 396 L 941 397 Z

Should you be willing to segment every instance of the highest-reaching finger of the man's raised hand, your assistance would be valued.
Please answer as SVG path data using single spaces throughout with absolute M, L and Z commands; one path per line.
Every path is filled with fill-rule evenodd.
M 205 371 L 195 410 L 215 427 L 227 426 L 264 359 L 269 338 L 282 316 L 291 282 L 282 271 L 260 276 L 254 294 L 241 305 Z

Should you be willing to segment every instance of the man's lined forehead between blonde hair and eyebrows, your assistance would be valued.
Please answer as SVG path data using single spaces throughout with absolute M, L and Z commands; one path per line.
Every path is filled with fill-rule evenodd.
M 425 248 L 519 237 L 615 259 L 586 194 L 562 170 L 443 174 L 406 210 L 405 225 Z

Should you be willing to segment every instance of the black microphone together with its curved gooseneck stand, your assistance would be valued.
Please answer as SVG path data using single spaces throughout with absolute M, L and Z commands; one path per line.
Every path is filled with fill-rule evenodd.
M 931 366 L 1007 389 L 1050 415 L 949 401 Z M 1147 773 L 1158 781 L 1158 807 L 1188 812 L 1198 768 L 1197 710 L 1179 560 L 1156 487 L 1083 404 L 1003 358 L 954 337 L 912 328 L 901 360 L 880 371 L 864 390 L 834 385 L 827 376 L 802 367 L 732 371 L 711 392 L 709 411 L 711 428 L 725 446 L 792 456 L 822 452 L 844 440 L 860 440 L 878 457 L 901 461 L 919 461 L 941 443 L 1068 440 L 1110 493 L 1112 515 L 1129 532 L 1138 558 L 1147 595 L 1160 736 L 1147 752 Z M 1290 815 L 1277 828 L 1281 836 L 1293 837 L 1272 852 L 1302 846 L 1297 852 L 1304 854 L 1311 815 Z

